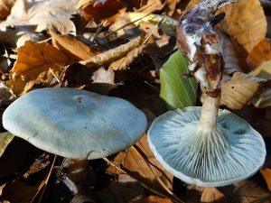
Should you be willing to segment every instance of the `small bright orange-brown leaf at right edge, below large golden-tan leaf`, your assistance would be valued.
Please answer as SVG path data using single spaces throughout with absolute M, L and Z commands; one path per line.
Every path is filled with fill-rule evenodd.
M 271 42 L 264 39 L 250 51 L 247 62 L 250 69 L 255 69 L 266 60 L 271 60 Z

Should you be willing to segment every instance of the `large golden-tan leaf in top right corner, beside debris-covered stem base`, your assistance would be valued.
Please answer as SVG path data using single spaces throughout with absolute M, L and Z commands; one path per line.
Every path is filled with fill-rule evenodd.
M 266 38 L 266 15 L 259 1 L 238 0 L 221 10 L 227 14 L 221 28 L 248 53 Z

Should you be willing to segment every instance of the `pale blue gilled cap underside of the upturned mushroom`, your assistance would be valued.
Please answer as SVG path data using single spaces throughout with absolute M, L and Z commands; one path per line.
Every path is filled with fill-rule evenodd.
M 187 183 L 220 187 L 245 180 L 264 164 L 263 138 L 246 121 L 220 110 L 213 131 L 199 129 L 201 107 L 186 107 L 157 117 L 148 143 L 164 168 Z

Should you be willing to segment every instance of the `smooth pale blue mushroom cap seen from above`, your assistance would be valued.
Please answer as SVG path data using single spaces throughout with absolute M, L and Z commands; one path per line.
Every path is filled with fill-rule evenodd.
M 125 150 L 146 128 L 145 114 L 124 99 L 73 88 L 42 88 L 18 98 L 3 115 L 12 134 L 73 159 Z

